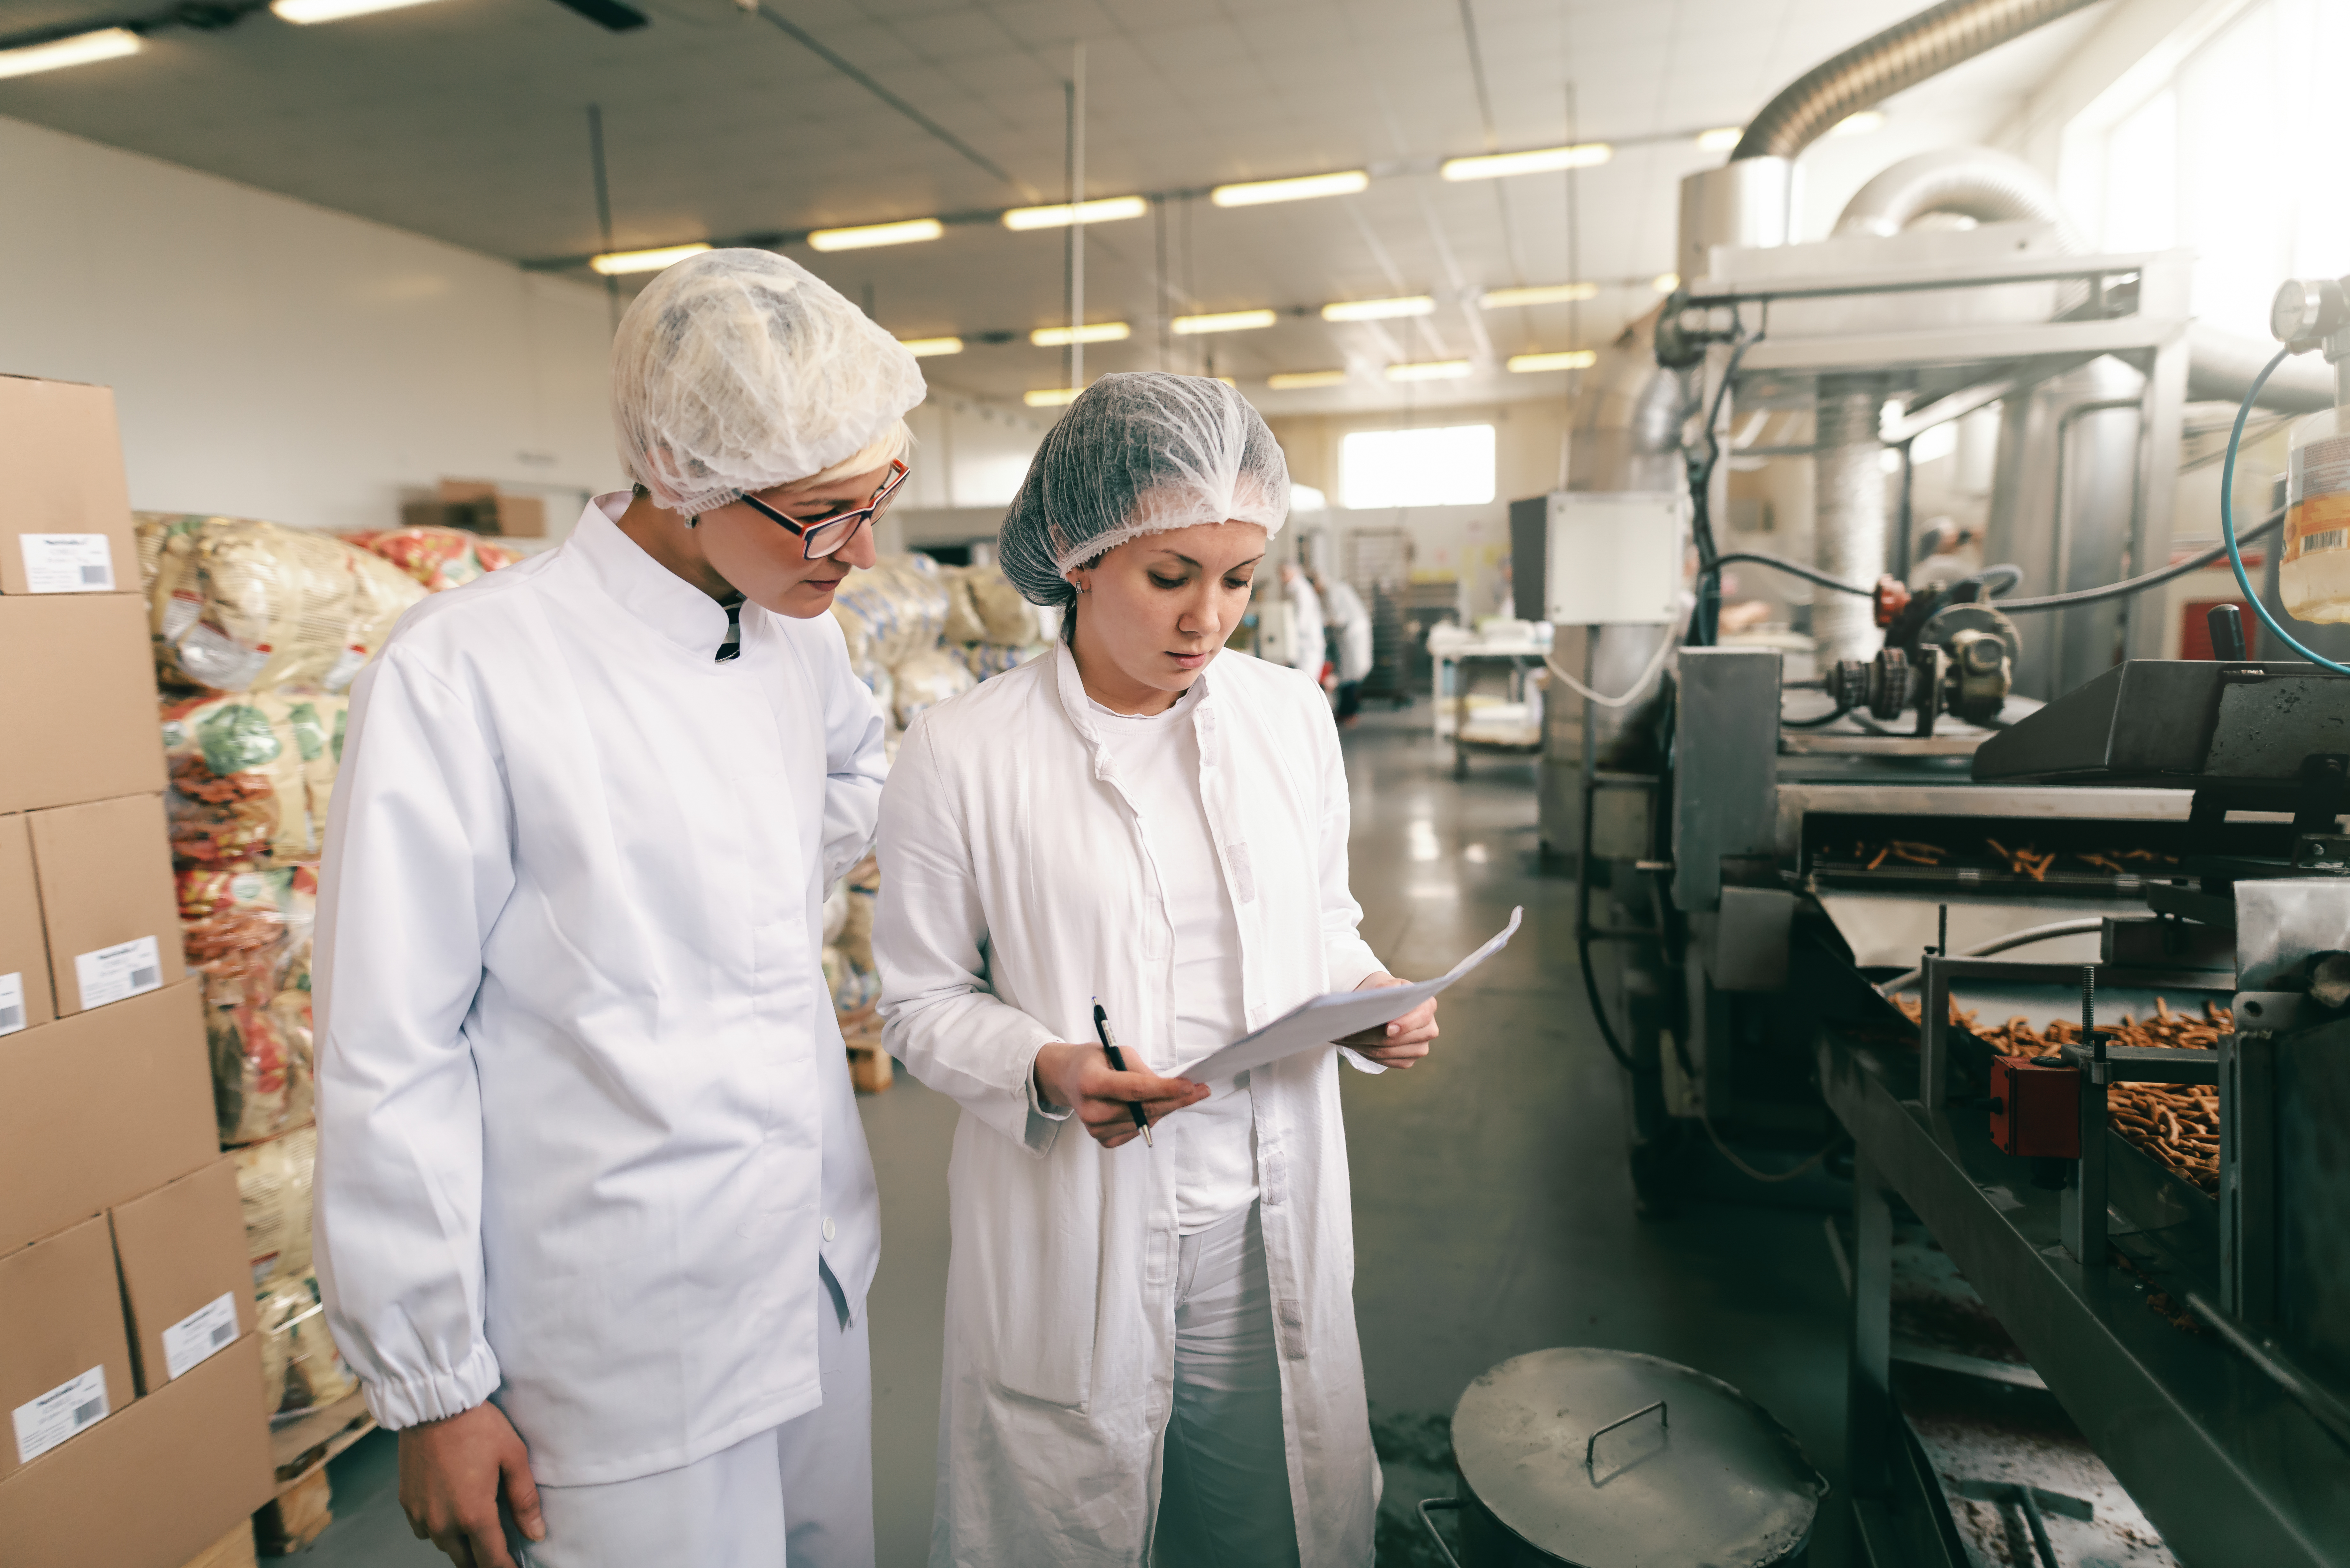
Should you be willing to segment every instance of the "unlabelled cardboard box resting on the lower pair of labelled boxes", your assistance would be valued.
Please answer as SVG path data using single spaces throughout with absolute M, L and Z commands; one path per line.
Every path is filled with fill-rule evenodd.
M 0 1037 L 0 1251 L 219 1159 L 200 992 Z

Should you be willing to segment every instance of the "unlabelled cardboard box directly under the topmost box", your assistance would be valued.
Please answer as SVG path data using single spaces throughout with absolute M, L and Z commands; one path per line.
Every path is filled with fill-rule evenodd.
M 146 599 L 0 595 L 0 811 L 162 790 Z

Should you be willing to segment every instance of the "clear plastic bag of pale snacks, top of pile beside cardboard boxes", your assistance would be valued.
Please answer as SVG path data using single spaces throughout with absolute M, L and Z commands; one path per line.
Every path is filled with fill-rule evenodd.
M 251 517 L 139 512 L 155 668 L 214 691 L 343 691 L 425 595 L 385 559 Z

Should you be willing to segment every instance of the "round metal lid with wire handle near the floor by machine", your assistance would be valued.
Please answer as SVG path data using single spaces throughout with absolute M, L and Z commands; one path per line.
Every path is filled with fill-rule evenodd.
M 1579 1568 L 1777 1563 L 1828 1493 L 1762 1406 L 1624 1349 L 1537 1349 L 1492 1368 L 1452 1410 L 1452 1453 L 1495 1519 Z

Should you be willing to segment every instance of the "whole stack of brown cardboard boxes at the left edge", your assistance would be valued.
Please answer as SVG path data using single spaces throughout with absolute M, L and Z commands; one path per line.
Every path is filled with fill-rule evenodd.
M 113 395 L 0 376 L 0 1559 L 235 1561 L 261 1338 Z

